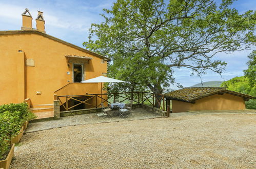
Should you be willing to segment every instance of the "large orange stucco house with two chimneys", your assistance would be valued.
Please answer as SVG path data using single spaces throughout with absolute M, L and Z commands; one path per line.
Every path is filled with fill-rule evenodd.
M 0 31 L 0 105 L 27 98 L 32 105 L 52 104 L 54 94 L 101 93 L 98 83 L 81 81 L 105 75 L 107 57 L 46 34 L 43 12 L 36 29 L 28 9 L 22 19 L 21 30 Z

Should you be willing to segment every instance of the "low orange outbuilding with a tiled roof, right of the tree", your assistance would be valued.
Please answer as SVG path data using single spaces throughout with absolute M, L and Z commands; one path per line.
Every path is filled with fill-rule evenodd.
M 245 110 L 245 101 L 254 97 L 225 88 L 183 88 L 164 94 L 172 113 L 198 110 Z

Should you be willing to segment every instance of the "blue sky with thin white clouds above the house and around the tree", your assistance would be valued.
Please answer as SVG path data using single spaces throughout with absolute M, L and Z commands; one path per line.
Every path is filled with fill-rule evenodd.
M 20 30 L 22 26 L 21 14 L 28 8 L 33 17 L 33 28 L 35 28 L 35 17 L 37 10 L 44 12 L 46 33 L 63 39 L 74 45 L 83 47 L 82 44 L 88 39 L 88 29 L 92 23 L 101 23 L 100 16 L 103 8 L 111 8 L 111 0 L 90 1 L 3 1 L 0 0 L 0 30 Z M 240 13 L 247 10 L 256 10 L 256 1 L 239 0 L 234 2 L 233 8 Z M 242 76 L 243 70 L 247 69 L 247 55 L 251 51 L 238 51 L 231 54 L 219 54 L 216 58 L 228 63 L 223 78 L 219 74 L 207 72 L 202 76 L 203 81 L 228 80 L 235 76 Z M 201 82 L 199 77 L 190 76 L 187 69 L 177 69 L 175 72 L 176 82 L 184 87 L 189 87 Z M 172 86 L 172 88 L 174 88 Z

